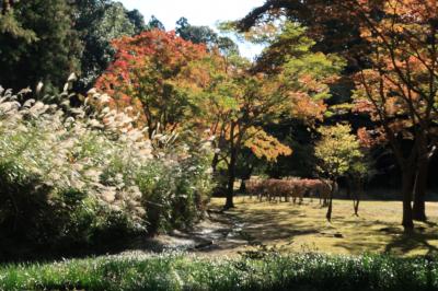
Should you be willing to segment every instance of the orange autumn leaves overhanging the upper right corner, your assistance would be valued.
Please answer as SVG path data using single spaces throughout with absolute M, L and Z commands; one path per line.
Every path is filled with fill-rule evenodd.
M 369 13 L 373 7 L 362 2 L 362 13 Z M 388 139 L 413 139 L 415 128 L 428 131 L 437 116 L 437 2 L 385 1 L 380 9 L 384 18 L 360 31 L 372 50 L 370 68 L 356 77 L 356 108 L 380 123 Z

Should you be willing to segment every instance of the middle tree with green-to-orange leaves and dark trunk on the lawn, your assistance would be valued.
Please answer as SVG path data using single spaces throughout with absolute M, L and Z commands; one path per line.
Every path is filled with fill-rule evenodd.
M 300 27 L 287 23 L 277 37 L 286 37 L 296 30 Z M 268 161 L 291 153 L 263 126 L 278 123 L 285 116 L 306 119 L 310 125 L 323 117 L 326 108 L 323 100 L 330 96 L 326 82 L 334 79 L 342 61 L 311 53 L 311 42 L 296 45 L 303 54 L 290 54 L 276 73 L 253 73 L 249 61 L 233 56 L 224 58 L 221 73 L 211 77 L 205 112 L 210 132 L 221 149 L 214 165 L 223 161 L 228 167 L 226 208 L 233 207 L 235 164 L 242 148 Z

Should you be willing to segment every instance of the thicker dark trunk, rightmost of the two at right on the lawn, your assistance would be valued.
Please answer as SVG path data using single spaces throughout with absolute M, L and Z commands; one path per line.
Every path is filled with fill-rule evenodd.
M 418 161 L 418 167 L 415 175 L 413 219 L 418 221 L 427 220 L 425 198 L 427 189 L 428 166 L 428 159 L 420 159 Z

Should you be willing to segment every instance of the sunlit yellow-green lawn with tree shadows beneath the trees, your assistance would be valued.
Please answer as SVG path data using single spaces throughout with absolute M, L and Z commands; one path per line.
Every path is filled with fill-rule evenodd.
M 211 201 L 212 208 L 222 205 L 222 198 Z M 241 233 L 249 242 L 276 245 L 285 251 L 399 256 L 438 253 L 438 202 L 427 203 L 428 223 L 416 222 L 415 233 L 411 235 L 405 235 L 400 225 L 401 202 L 362 201 L 359 217 L 353 216 L 349 200 L 334 200 L 333 208 L 332 223 L 328 223 L 326 209 L 316 200 L 306 199 L 302 205 L 293 205 L 238 197 L 235 208 L 226 213 L 241 222 Z

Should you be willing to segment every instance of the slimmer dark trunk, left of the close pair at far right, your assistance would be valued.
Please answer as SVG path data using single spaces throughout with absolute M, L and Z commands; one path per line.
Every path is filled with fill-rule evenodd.
M 402 197 L 403 197 L 403 220 L 402 225 L 405 232 L 414 230 L 414 221 L 412 216 L 412 191 L 414 181 L 414 170 L 404 167 L 402 170 Z

